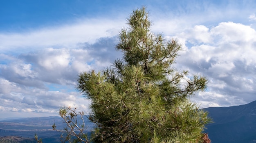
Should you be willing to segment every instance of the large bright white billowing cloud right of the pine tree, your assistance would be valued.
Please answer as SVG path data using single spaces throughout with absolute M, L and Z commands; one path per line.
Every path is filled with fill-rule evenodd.
M 177 59 L 178 66 L 209 78 L 208 91 L 193 99 L 203 103 L 203 107 L 231 106 L 256 100 L 253 89 L 256 83 L 255 30 L 239 23 L 222 22 L 207 30 L 208 36 L 198 39 L 196 35 L 200 35 L 200 30 L 195 33 L 197 29 L 195 26 L 192 32 L 179 35 L 185 42 L 192 40 L 200 44 L 186 48 Z M 215 43 L 201 43 L 204 39 L 212 39 Z

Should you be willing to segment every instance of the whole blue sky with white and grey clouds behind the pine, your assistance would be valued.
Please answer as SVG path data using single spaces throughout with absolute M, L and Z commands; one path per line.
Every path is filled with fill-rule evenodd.
M 122 58 L 119 31 L 141 6 L 152 32 L 182 43 L 175 67 L 209 80 L 191 97 L 200 108 L 256 100 L 255 0 L 1 0 L 0 118 L 89 112 L 76 78 Z

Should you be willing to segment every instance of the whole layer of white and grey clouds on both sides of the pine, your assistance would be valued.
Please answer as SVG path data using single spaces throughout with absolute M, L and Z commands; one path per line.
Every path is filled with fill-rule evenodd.
M 186 12 L 192 9 L 180 7 L 180 15 L 158 16 L 161 11 L 148 7 L 153 11 L 153 32 L 177 38 L 184 46 L 177 69 L 209 80 L 207 91 L 191 100 L 202 108 L 256 100 L 256 20 L 250 9 L 232 14 L 232 6 L 227 6 L 214 16 L 214 6 L 192 14 Z M 200 11 L 205 13 L 198 16 Z M 122 57 L 114 47 L 125 23 L 125 17 L 83 18 L 74 24 L 0 33 L 0 116 L 58 115 L 58 108 L 66 105 L 88 111 L 90 101 L 75 91 L 76 76 Z

